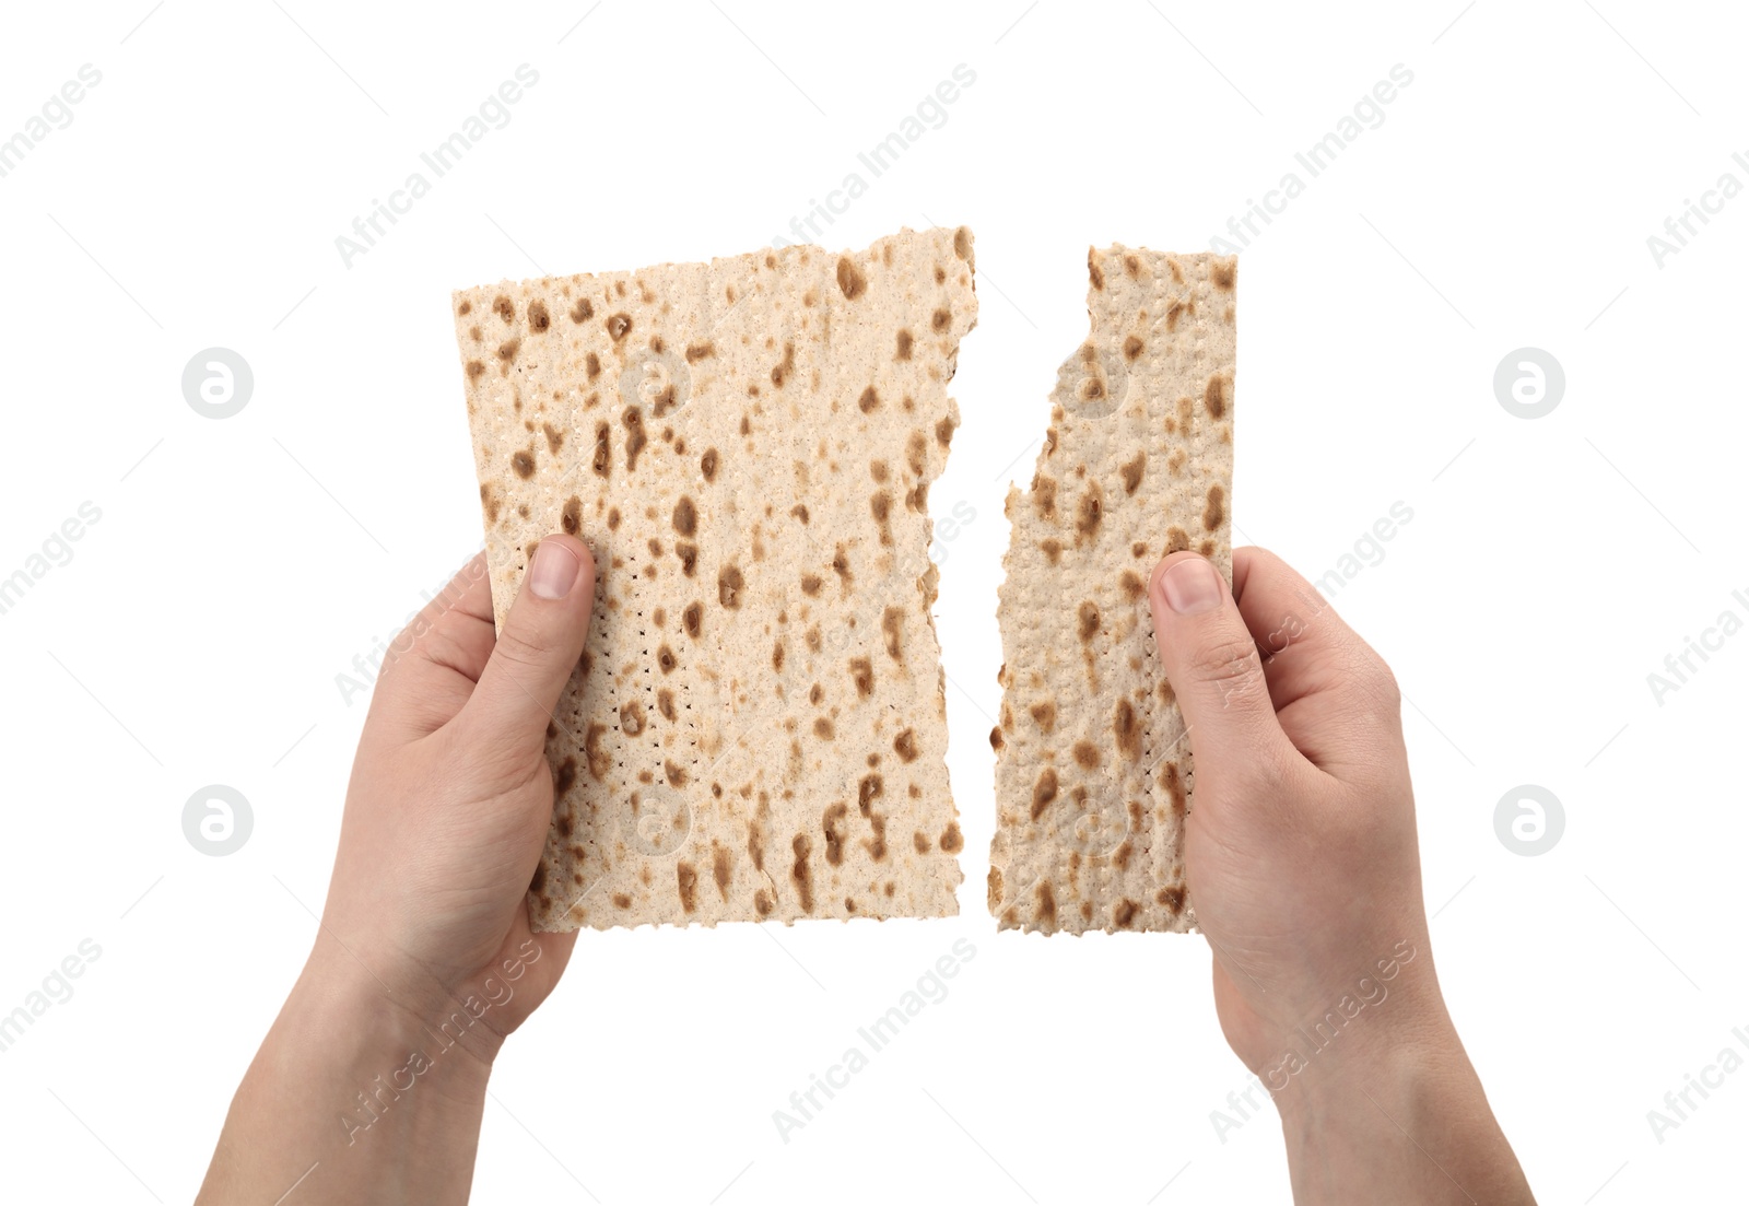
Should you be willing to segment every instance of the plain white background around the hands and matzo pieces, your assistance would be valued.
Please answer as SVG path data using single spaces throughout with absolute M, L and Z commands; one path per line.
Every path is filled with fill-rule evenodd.
M 584 933 L 498 1062 L 477 1201 L 1287 1199 L 1273 1117 L 1210 1124 L 1244 1069 L 1207 943 L 997 936 L 983 880 L 1002 495 L 1084 333 L 1086 247 L 1205 249 L 1291 170 L 1240 273 L 1235 541 L 1317 578 L 1413 509 L 1336 604 L 1413 702 L 1441 978 L 1541 1201 L 1740 1195 L 1749 1073 L 1663 1143 L 1648 1111 L 1749 1026 L 1749 635 L 1662 704 L 1646 681 L 1749 618 L 1749 198 L 1662 266 L 1646 243 L 1749 184 L 1740 16 L 589 4 L 7 12 L 0 137 L 80 65 L 101 84 L 0 179 L 0 576 L 80 502 L 101 520 L 0 616 L 0 1013 L 80 940 L 101 957 L 0 1054 L 0 1195 L 199 1183 L 315 933 L 366 712 L 336 676 L 479 544 L 449 291 L 752 250 L 854 170 L 829 247 L 978 236 L 932 490 L 978 515 L 937 616 L 964 915 Z M 346 268 L 334 238 L 519 63 L 511 123 Z M 871 179 L 857 152 L 958 63 L 946 124 Z M 1383 124 L 1308 179 L 1294 152 L 1397 63 Z M 224 422 L 180 389 L 213 345 L 255 375 Z M 1539 420 L 1492 387 L 1525 345 L 1567 375 Z M 229 858 L 182 833 L 212 782 L 254 807 Z M 1494 831 L 1525 782 L 1565 810 L 1539 858 Z M 782 1143 L 771 1111 L 957 938 L 951 994 Z

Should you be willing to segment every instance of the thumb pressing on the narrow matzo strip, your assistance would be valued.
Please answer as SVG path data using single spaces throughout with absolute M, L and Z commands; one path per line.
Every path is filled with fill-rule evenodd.
M 1196 553 L 1174 553 L 1154 569 L 1147 602 L 1198 768 L 1286 753 L 1258 642 L 1219 571 Z

